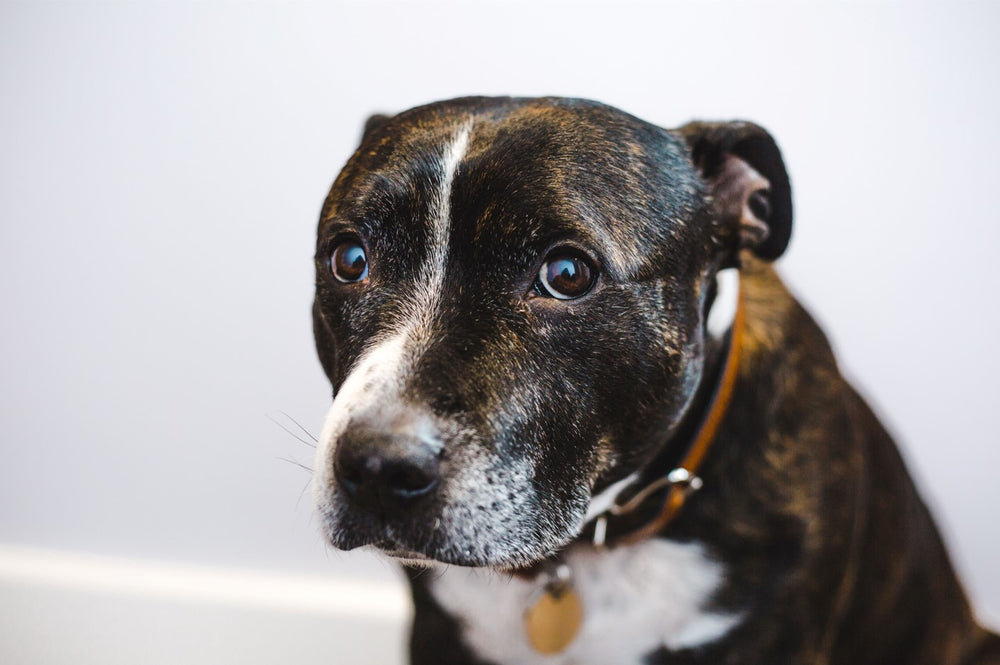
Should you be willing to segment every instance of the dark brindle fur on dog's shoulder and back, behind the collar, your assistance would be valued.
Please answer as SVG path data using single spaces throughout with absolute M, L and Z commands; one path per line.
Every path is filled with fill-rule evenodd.
M 712 543 L 720 605 L 754 608 L 716 662 L 1000 662 L 892 439 L 773 269 L 743 263 L 744 356 L 704 472 L 718 491 L 671 534 Z

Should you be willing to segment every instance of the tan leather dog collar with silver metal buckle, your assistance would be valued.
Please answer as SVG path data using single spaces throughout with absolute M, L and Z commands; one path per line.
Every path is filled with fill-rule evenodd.
M 720 377 L 709 399 L 705 415 L 702 417 L 691 444 L 687 447 L 680 463 L 671 468 L 665 475 L 657 477 L 622 503 L 619 503 L 621 496 L 639 481 L 640 474 L 629 476 L 624 481 L 620 481 L 617 487 L 610 488 L 611 497 L 607 507 L 600 507 L 588 515 L 587 523 L 593 522 L 594 525 L 592 541 L 596 547 L 604 547 L 608 544 L 609 519 L 635 512 L 645 505 L 651 497 L 666 489 L 667 494 L 663 505 L 653 519 L 637 529 L 616 537 L 615 544 L 634 544 L 655 536 L 677 517 L 687 498 L 700 489 L 703 484 L 698 471 L 715 441 L 719 425 L 729 410 L 744 334 L 745 307 L 738 272 L 735 269 L 723 271 L 719 273 L 718 278 L 720 291 L 717 296 L 718 303 L 713 304 L 712 310 L 709 312 L 707 327 L 710 333 L 723 334 L 724 327 L 720 325 L 720 312 L 723 313 L 721 320 L 731 320 L 732 325 L 729 327 L 729 344 Z M 727 290 L 728 293 L 726 293 Z

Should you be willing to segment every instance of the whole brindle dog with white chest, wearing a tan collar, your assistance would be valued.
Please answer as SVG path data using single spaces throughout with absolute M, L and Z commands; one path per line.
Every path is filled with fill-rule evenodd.
M 1000 663 L 771 266 L 791 226 L 747 122 L 368 121 L 319 223 L 313 489 L 329 543 L 408 571 L 413 663 Z

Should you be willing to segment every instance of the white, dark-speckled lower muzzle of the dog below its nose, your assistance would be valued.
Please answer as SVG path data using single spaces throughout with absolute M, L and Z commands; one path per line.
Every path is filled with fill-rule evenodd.
M 351 487 L 332 474 L 320 477 L 314 491 L 327 542 L 405 565 L 511 569 L 550 556 L 578 533 L 589 486 L 560 487 L 553 496 L 534 481 L 527 460 L 453 448 L 458 452 L 442 464 L 437 483 L 417 496 L 394 493 L 390 480 L 385 487 L 374 485 L 379 478 Z M 334 468 L 325 458 L 320 465 Z

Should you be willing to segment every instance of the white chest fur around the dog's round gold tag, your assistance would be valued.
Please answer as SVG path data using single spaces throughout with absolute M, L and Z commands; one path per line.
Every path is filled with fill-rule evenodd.
M 565 556 L 583 601 L 583 626 L 567 649 L 543 656 L 528 645 L 522 617 L 538 590 L 534 582 L 482 569 L 433 571 L 431 593 L 461 622 L 466 644 L 484 659 L 517 665 L 640 663 L 660 647 L 670 650 L 713 642 L 739 616 L 706 610 L 723 567 L 701 545 L 650 540 Z

